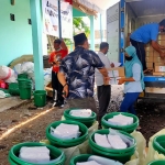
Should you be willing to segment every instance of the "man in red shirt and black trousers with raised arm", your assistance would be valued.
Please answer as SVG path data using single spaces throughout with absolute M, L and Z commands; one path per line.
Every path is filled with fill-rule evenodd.
M 68 48 L 63 40 L 54 41 L 55 51 L 50 55 L 50 63 L 52 64 L 52 88 L 53 88 L 53 107 L 64 107 L 63 86 L 58 81 L 57 73 L 62 59 L 68 54 Z

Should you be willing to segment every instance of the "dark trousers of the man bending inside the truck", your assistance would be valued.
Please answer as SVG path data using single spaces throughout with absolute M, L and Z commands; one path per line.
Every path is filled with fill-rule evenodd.
M 132 38 L 130 38 L 130 42 L 131 42 L 132 46 L 134 46 L 136 48 L 136 55 L 142 63 L 143 70 L 146 70 L 147 68 L 146 68 L 146 61 L 145 61 L 146 55 L 145 55 L 145 50 L 144 50 L 144 43 L 136 42 Z

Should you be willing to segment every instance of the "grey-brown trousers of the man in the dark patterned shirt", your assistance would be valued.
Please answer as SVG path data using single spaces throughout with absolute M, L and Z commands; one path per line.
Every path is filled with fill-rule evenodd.
M 96 102 L 95 99 L 91 97 L 82 99 L 68 99 L 67 103 L 69 108 L 91 109 L 94 112 L 97 113 Z

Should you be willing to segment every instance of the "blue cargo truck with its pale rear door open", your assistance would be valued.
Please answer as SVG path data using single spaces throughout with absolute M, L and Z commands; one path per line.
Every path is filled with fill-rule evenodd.
M 108 56 L 124 64 L 129 33 L 139 26 L 165 19 L 165 0 L 120 0 L 107 10 Z M 164 74 L 165 75 L 165 74 Z M 165 99 L 165 77 L 145 75 L 143 98 Z

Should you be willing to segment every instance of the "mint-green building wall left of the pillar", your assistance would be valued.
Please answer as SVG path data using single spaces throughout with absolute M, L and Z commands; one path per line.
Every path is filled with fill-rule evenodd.
M 32 54 L 30 0 L 0 0 L 0 65 L 8 65 L 23 54 Z M 15 21 L 10 20 L 10 13 Z

